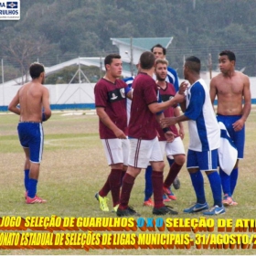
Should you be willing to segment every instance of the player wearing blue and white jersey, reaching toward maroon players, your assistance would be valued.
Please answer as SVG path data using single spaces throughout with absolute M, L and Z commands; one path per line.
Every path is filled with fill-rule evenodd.
M 187 170 L 196 192 L 197 202 L 184 212 L 194 213 L 202 210 L 204 215 L 219 215 L 225 213 L 221 200 L 221 180 L 218 173 L 218 148 L 220 131 L 215 113 L 210 101 L 208 86 L 200 79 L 200 59 L 191 56 L 186 59 L 183 72 L 190 86 L 185 102 L 180 103 L 183 115 L 162 120 L 164 125 L 188 121 L 189 145 L 187 152 Z M 181 86 L 186 81 L 181 83 Z M 205 197 L 204 178 L 208 176 L 214 205 L 208 209 Z

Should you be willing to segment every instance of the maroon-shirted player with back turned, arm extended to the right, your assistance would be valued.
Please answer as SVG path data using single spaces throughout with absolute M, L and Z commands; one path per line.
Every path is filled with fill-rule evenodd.
M 148 163 L 153 166 L 152 183 L 154 190 L 155 215 L 177 214 L 176 211 L 166 207 L 163 203 L 163 170 L 165 167 L 163 155 L 156 133 L 155 113 L 184 101 L 185 87 L 180 93 L 169 101 L 157 102 L 157 86 L 152 78 L 155 71 L 155 56 L 146 51 L 140 57 L 140 73 L 133 80 L 133 101 L 131 107 L 131 119 L 128 127 L 131 151 L 129 156 L 128 170 L 123 177 L 123 186 L 120 197 L 120 205 L 117 216 L 137 215 L 133 208 L 128 206 L 133 183 Z M 168 141 L 174 139 L 173 133 L 166 132 Z

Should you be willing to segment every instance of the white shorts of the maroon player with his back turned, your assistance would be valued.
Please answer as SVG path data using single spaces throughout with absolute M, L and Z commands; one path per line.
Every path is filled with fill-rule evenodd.
M 149 162 L 164 161 L 157 137 L 153 140 L 130 139 L 129 165 L 146 168 Z

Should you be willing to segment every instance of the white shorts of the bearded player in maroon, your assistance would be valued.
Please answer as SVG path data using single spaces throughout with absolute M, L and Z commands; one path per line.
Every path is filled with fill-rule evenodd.
M 172 143 L 167 143 L 166 141 L 161 141 L 159 143 L 162 154 L 166 154 L 170 159 L 173 158 L 173 155 L 185 155 L 184 144 L 180 137 L 176 137 Z

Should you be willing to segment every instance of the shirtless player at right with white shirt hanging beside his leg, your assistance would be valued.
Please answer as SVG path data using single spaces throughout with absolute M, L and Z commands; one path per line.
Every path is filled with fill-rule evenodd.
M 245 142 L 245 122 L 251 112 L 251 91 L 248 76 L 235 70 L 236 56 L 232 51 L 219 53 L 220 73 L 210 81 L 212 103 L 217 96 L 217 119 L 225 124 L 231 140 L 237 147 L 238 160 L 230 176 L 219 168 L 225 206 L 236 206 L 233 193 L 239 175 L 239 159 L 243 158 Z M 244 105 L 243 105 L 244 101 Z

